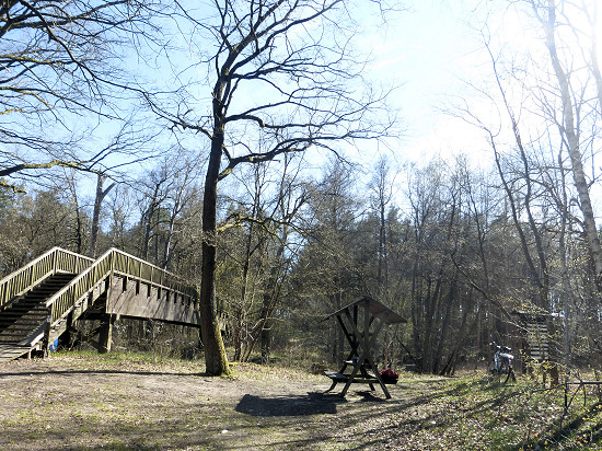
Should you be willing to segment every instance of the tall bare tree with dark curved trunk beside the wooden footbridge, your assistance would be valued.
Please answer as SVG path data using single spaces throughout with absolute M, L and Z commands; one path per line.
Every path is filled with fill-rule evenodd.
M 215 53 L 199 57 L 211 70 L 211 113 L 195 107 L 192 91 L 171 113 L 148 99 L 164 118 L 209 140 L 200 315 L 207 373 L 220 374 L 230 369 L 215 315 L 218 183 L 242 163 L 312 147 L 337 152 L 341 141 L 378 138 L 391 124 L 372 116 L 382 95 L 366 89 L 351 51 L 356 30 L 337 25 L 349 22 L 347 2 L 218 0 L 212 7 L 209 18 L 178 11 L 213 41 Z

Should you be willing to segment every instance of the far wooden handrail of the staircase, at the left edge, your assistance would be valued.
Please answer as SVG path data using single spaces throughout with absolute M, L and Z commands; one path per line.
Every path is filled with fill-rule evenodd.
M 93 262 L 94 258 L 76 252 L 53 247 L 0 280 L 0 308 L 53 274 L 58 271 L 78 274 Z

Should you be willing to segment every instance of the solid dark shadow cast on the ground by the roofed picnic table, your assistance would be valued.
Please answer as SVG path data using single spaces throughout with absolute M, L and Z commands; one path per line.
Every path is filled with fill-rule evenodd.
M 257 417 L 336 414 L 346 401 L 335 394 L 310 392 L 306 395 L 262 397 L 245 394 L 234 410 Z

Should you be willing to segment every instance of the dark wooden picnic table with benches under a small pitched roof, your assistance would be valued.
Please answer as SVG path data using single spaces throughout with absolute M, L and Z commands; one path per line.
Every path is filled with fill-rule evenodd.
M 385 383 L 393 381 L 381 378 L 372 358 L 372 349 L 384 325 L 406 323 L 407 320 L 372 298 L 362 298 L 326 319 L 331 317 L 336 317 L 351 350 L 338 372 L 326 372 L 333 381 L 327 391 L 332 391 L 337 383 L 344 382 L 340 396 L 345 396 L 352 383 L 367 383 L 370 390 L 374 390 L 374 384 L 378 383 L 385 396 L 390 398 L 391 394 Z

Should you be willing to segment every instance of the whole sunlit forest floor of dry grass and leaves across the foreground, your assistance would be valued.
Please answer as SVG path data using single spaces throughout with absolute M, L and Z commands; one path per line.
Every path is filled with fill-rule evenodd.
M 602 404 L 483 373 L 402 373 L 383 393 L 296 369 L 234 366 L 209 378 L 196 361 L 58 354 L 0 366 L 2 450 L 602 449 Z M 340 388 L 340 385 L 338 385 Z M 563 421 L 560 421 L 563 419 Z

